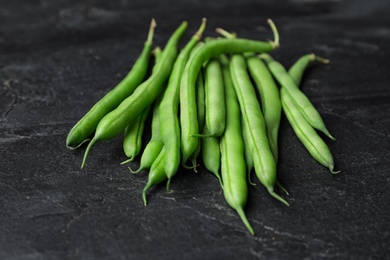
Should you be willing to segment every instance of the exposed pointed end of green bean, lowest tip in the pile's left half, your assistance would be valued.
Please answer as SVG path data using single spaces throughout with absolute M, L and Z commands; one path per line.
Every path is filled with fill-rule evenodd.
M 164 171 L 164 156 L 165 153 L 165 146 L 162 148 L 161 152 L 158 154 L 156 160 L 153 162 L 149 174 L 148 174 L 148 181 L 142 190 L 142 200 L 144 202 L 144 205 L 147 204 L 146 199 L 146 192 L 152 187 L 157 184 L 160 184 L 161 182 L 165 181 L 167 179 L 167 175 Z

